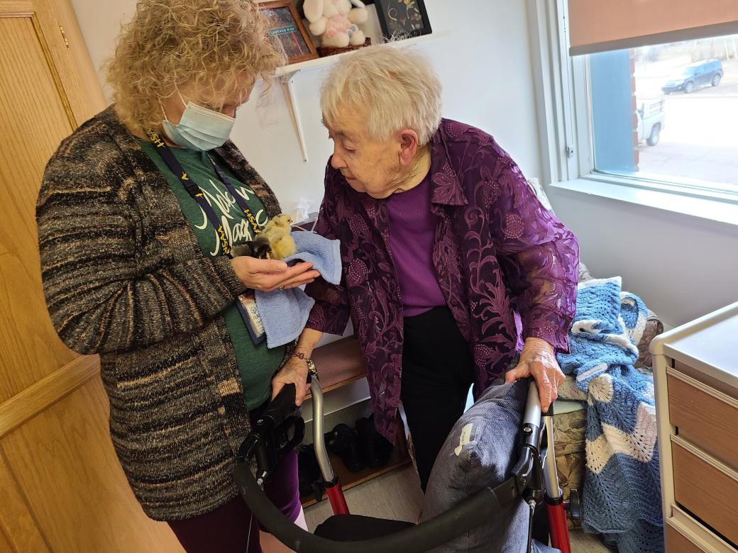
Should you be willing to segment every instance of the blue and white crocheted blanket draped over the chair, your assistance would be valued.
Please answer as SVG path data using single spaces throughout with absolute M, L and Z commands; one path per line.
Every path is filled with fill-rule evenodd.
M 646 318 L 620 277 L 582 282 L 570 352 L 558 355 L 587 394 L 584 529 L 620 553 L 663 551 L 653 377 L 633 367 Z

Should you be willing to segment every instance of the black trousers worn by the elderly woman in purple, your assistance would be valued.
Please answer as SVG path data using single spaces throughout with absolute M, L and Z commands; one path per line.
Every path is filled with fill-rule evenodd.
M 475 366 L 448 307 L 404 319 L 401 399 L 423 490 L 435 458 L 463 414 Z

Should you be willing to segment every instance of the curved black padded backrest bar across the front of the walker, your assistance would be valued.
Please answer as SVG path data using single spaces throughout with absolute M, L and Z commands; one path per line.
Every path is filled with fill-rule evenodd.
M 494 490 L 483 488 L 430 521 L 421 522 L 417 526 L 381 538 L 347 542 L 327 540 L 313 535 L 286 518 L 266 497 L 256 483 L 249 466 L 244 462 L 236 464 L 234 478 L 241 497 L 256 519 L 278 540 L 297 553 L 427 552 L 494 519 L 503 505 L 518 497 L 513 479 L 508 479 Z

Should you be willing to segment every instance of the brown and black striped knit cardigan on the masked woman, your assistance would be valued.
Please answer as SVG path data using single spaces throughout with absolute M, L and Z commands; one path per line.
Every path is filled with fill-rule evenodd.
M 232 142 L 215 151 L 269 217 L 280 212 Z M 227 257 L 203 256 L 112 107 L 49 160 L 36 218 L 52 323 L 70 348 L 100 354 L 113 445 L 146 514 L 181 520 L 229 501 L 249 417 L 220 315 L 244 291 Z

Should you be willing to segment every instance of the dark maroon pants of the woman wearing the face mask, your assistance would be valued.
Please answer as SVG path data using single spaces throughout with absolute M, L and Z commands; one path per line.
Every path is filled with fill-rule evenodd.
M 262 408 L 252 411 L 252 424 L 262 411 Z M 292 451 L 280 459 L 264 492 L 287 518 L 297 520 L 300 515 L 297 452 Z M 258 521 L 252 518 L 241 495 L 199 517 L 168 524 L 187 553 L 261 553 Z

